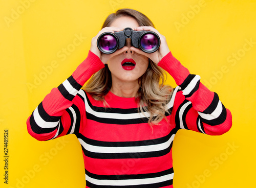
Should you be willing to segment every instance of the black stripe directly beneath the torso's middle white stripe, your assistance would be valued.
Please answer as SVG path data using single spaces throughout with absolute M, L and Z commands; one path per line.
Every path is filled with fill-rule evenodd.
M 82 146 L 82 145 L 81 145 Z M 170 146 L 161 151 L 152 151 L 152 152 L 136 152 L 136 153 L 95 153 L 90 152 L 83 148 L 82 151 L 84 155 L 91 157 L 91 158 L 98 158 L 98 159 L 121 159 L 121 158 L 149 158 L 149 157 L 160 157 L 166 155 L 172 149 L 173 142 Z

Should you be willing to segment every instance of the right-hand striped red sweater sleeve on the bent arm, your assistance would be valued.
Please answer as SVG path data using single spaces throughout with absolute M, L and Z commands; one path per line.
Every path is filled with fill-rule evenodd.
M 221 135 L 232 125 L 230 111 L 219 100 L 216 92 L 200 82 L 199 75 L 192 75 L 171 52 L 158 63 L 178 85 L 172 114 L 177 129 L 189 129 L 209 135 Z

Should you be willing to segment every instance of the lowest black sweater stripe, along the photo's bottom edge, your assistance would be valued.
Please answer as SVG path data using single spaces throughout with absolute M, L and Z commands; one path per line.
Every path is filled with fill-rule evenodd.
M 90 188 L 159 188 L 163 186 L 168 186 L 173 184 L 173 179 L 159 182 L 159 183 L 152 183 L 152 184 L 141 184 L 141 185 L 124 185 L 124 186 L 118 186 L 118 185 L 95 185 L 89 181 L 86 180 L 86 186 Z

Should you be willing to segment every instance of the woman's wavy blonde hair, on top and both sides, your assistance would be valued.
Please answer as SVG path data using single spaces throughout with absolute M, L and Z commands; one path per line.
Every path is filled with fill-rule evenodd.
M 133 9 L 120 9 L 116 13 L 110 14 L 104 21 L 102 28 L 109 27 L 111 23 L 121 16 L 130 16 L 135 18 L 139 26 L 152 26 L 153 22 L 144 14 Z M 138 79 L 140 88 L 135 96 L 138 103 L 138 111 L 142 113 L 150 112 L 148 124 L 157 125 L 161 120 L 166 119 L 165 112 L 169 113 L 165 105 L 169 102 L 173 93 L 173 88 L 164 85 L 166 73 L 151 59 L 148 59 L 146 72 Z M 103 101 L 104 106 L 108 106 L 104 100 L 105 95 L 112 86 L 111 72 L 108 64 L 95 73 L 82 89 L 87 91 L 95 100 Z

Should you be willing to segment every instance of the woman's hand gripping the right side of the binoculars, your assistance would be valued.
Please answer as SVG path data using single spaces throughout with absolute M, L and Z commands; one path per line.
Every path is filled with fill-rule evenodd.
M 140 49 L 135 48 L 134 46 L 131 47 L 131 50 L 133 50 L 134 52 L 138 53 L 138 54 L 142 54 L 148 58 L 150 58 L 153 62 L 155 62 L 156 64 L 159 63 L 159 61 L 161 61 L 161 59 L 170 52 L 167 42 L 166 42 L 166 38 L 165 36 L 161 35 L 155 28 L 151 27 L 151 26 L 141 26 L 138 28 L 134 28 L 134 31 L 153 31 L 156 34 L 158 34 L 158 36 L 160 37 L 161 40 L 161 44 L 159 46 L 159 49 L 154 52 L 154 53 L 145 53 Z

